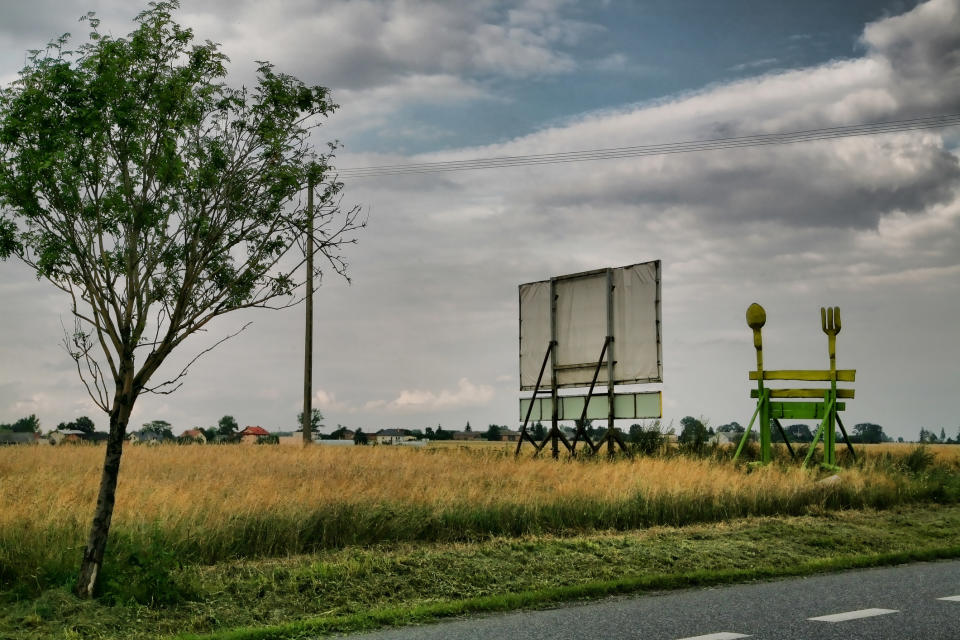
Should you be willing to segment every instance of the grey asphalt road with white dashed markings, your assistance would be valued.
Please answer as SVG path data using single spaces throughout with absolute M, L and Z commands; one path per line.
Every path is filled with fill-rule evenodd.
M 954 599 L 943 599 L 951 598 Z M 826 619 L 817 620 L 827 616 Z M 610 598 L 357 640 L 960 639 L 960 561 Z

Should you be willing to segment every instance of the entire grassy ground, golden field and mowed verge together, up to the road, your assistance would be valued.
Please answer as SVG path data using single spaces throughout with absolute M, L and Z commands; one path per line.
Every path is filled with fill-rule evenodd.
M 729 448 L 512 449 L 130 446 L 101 593 L 83 601 L 103 448 L 0 448 L 0 638 L 300 637 L 960 555 L 960 447 L 859 447 L 839 482 L 780 449 L 761 469 Z

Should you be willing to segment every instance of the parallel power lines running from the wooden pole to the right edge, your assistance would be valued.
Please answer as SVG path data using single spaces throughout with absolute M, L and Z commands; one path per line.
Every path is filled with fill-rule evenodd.
M 412 164 L 377 165 L 371 167 L 352 167 L 339 171 L 340 178 L 372 178 L 408 174 L 444 173 L 449 171 L 473 171 L 477 169 L 497 169 L 541 164 L 561 164 L 567 162 L 585 162 L 590 160 L 610 160 L 616 158 L 639 158 L 644 156 L 693 153 L 697 151 L 715 151 L 742 147 L 760 147 L 775 144 L 795 144 L 816 140 L 851 138 L 881 133 L 899 133 L 920 129 L 939 129 L 960 124 L 960 113 L 951 113 L 908 120 L 891 120 L 841 127 L 806 129 L 787 133 L 764 133 L 752 136 L 713 138 L 707 140 L 688 140 L 663 144 L 640 145 L 631 147 L 612 147 L 587 149 L 582 151 L 562 151 L 533 155 L 498 156 L 475 158 L 471 160 L 449 160 L 443 162 L 421 162 Z

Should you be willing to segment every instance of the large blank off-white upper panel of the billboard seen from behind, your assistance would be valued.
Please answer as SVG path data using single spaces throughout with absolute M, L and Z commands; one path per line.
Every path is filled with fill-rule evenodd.
M 590 386 L 613 310 L 613 383 L 660 382 L 660 261 L 619 267 L 607 289 L 607 269 L 520 285 L 520 389 L 536 386 L 556 322 L 557 386 Z M 552 317 L 550 296 L 556 295 Z M 606 357 L 604 357 L 606 362 Z M 607 384 L 607 367 L 597 383 Z M 550 385 L 550 365 L 541 388 Z

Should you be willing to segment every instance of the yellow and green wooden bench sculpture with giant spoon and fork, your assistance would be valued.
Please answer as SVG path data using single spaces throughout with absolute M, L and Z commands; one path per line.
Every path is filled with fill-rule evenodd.
M 850 444 L 850 438 L 847 436 L 847 430 L 840 420 L 840 412 L 846 409 L 846 403 L 841 399 L 853 399 L 853 389 L 838 389 L 838 382 L 854 382 L 857 372 L 854 369 L 837 369 L 837 334 L 840 333 L 840 308 L 828 307 L 820 309 L 820 323 L 823 332 L 827 334 L 827 348 L 830 355 L 830 369 L 782 369 L 775 371 L 764 371 L 763 369 L 763 339 L 760 330 L 767 321 L 767 314 L 759 304 L 754 302 L 747 308 L 747 325 L 753 329 L 753 346 L 757 350 L 757 370 L 750 372 L 750 380 L 757 381 L 757 388 L 751 389 L 750 397 L 757 399 L 757 408 L 750 418 L 750 424 L 744 431 L 737 451 L 733 456 L 736 460 L 747 440 L 750 438 L 753 423 L 759 417 L 760 431 L 760 463 L 767 464 L 772 460 L 771 447 L 771 425 L 775 426 L 790 456 L 796 458 L 790 440 L 780 424 L 780 420 L 819 420 L 820 428 L 817 429 L 810 443 L 810 449 L 803 461 L 803 466 L 810 462 L 813 452 L 817 448 L 820 440 L 823 440 L 823 464 L 828 467 L 835 467 L 837 464 L 836 455 L 836 427 L 840 427 L 843 439 L 850 450 L 850 454 L 856 460 L 856 453 L 853 445 Z M 804 388 L 804 389 L 774 389 L 768 387 L 765 382 L 774 380 L 801 381 L 801 382 L 829 382 L 828 388 Z

